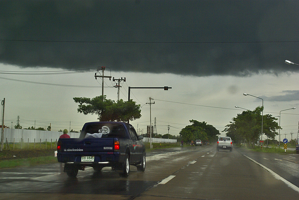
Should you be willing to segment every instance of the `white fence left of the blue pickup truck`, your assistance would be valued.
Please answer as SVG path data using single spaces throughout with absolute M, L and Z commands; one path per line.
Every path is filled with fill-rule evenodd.
M 0 128 L 0 132 L 2 131 L 2 129 Z M 4 128 L 4 143 L 6 142 L 6 138 L 7 138 L 7 142 L 8 143 L 13 143 L 13 140 L 16 143 L 21 142 L 21 139 L 23 139 L 24 142 L 29 142 L 33 143 L 34 139 L 35 142 L 40 142 L 40 140 L 42 142 L 45 142 L 47 139 L 47 142 L 51 142 L 51 139 L 53 142 L 58 141 L 59 136 L 62 135 L 62 132 L 58 132 L 58 131 L 39 131 L 39 130 L 28 130 L 28 129 L 7 129 Z M 68 133 L 69 136 L 71 136 L 71 138 L 79 138 L 80 133 Z

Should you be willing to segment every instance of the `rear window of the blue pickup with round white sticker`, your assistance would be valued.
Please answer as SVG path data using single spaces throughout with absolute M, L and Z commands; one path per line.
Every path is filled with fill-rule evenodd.
M 122 124 L 89 124 L 80 133 L 79 138 L 125 138 L 125 130 Z

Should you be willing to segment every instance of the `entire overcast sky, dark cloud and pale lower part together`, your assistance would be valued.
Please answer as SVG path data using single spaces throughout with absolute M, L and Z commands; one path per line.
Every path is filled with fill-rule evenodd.
M 298 1 L 0 1 L 0 99 L 5 124 L 80 130 L 95 115 L 77 113 L 73 97 L 101 95 L 105 74 L 122 82 L 120 98 L 141 104 L 137 129 L 152 123 L 177 135 L 189 120 L 220 132 L 242 109 L 264 114 L 298 107 Z M 29 75 L 12 72 L 94 69 L 86 73 Z M 98 73 L 100 75 L 100 73 Z M 3 79 L 4 78 L 4 79 Z M 20 81 L 21 80 L 21 81 Z M 24 82 L 31 81 L 31 83 Z M 50 83 L 66 87 L 37 84 Z M 104 94 L 117 100 L 115 83 Z M 94 87 L 94 86 L 97 86 Z M 281 134 L 297 136 L 299 108 L 282 112 Z M 43 123 L 45 122 L 45 123 Z M 279 120 L 277 120 L 279 122 Z M 222 132 L 222 134 L 224 134 Z M 284 135 L 283 135 L 284 136 Z

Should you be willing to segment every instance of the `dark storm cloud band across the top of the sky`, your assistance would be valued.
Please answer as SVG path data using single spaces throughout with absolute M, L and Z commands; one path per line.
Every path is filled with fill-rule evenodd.
M 0 62 L 195 76 L 298 71 L 299 1 L 1 1 Z M 8 41 L 24 40 L 24 41 Z M 30 41 L 33 40 L 33 41 Z

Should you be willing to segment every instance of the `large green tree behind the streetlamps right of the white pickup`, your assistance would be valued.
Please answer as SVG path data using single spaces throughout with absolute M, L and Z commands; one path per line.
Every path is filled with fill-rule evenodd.
M 253 111 L 243 111 L 242 114 L 234 117 L 233 121 L 226 125 L 222 132 L 226 132 L 226 135 L 234 141 L 246 139 L 248 142 L 252 141 L 254 143 L 261 134 L 262 110 L 263 107 L 258 106 Z M 277 119 L 272 117 L 271 114 L 263 115 L 263 133 L 268 135 L 270 139 L 274 139 L 275 135 L 278 135 L 276 130 L 280 128 L 274 120 Z

